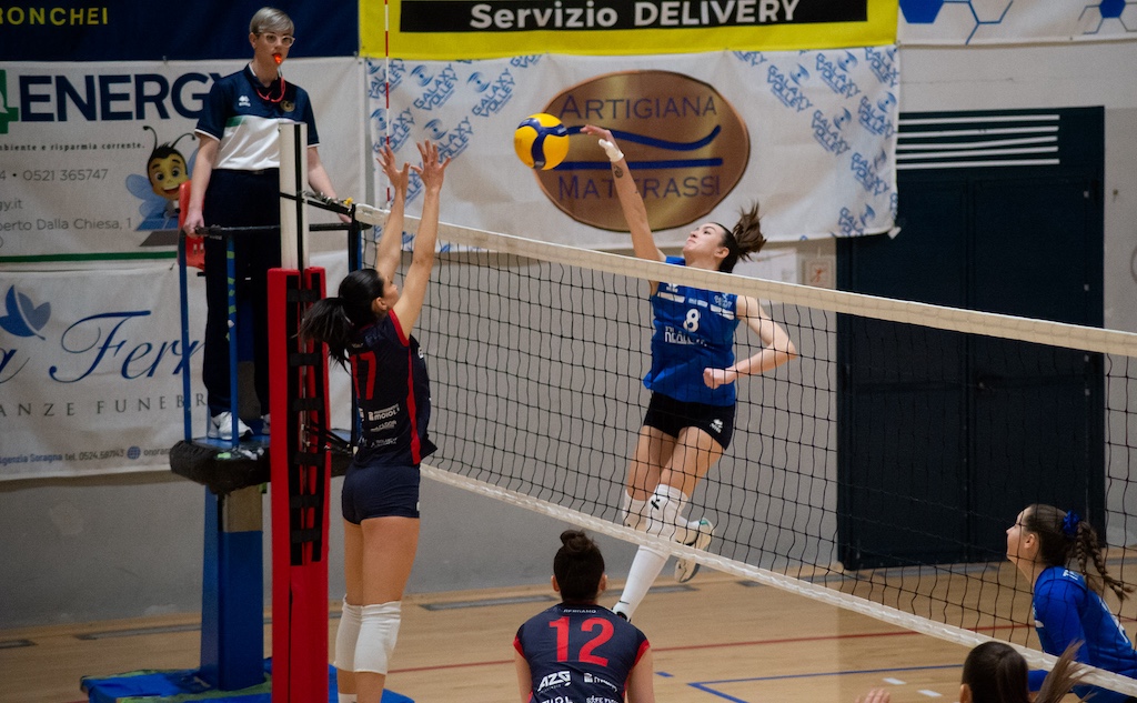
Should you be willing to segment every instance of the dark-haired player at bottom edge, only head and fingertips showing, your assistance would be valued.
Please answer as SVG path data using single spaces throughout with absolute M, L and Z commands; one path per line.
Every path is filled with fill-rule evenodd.
M 1074 662 L 1080 643 L 1067 647 L 1037 694 L 1027 686 L 1027 660 L 1003 642 L 985 642 L 968 653 L 960 681 L 960 703 L 1059 703 L 1080 680 Z M 887 688 L 873 688 L 856 703 L 889 703 Z

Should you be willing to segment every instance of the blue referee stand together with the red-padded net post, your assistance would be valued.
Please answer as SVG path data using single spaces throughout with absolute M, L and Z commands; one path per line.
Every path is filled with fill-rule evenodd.
M 241 440 L 194 439 L 189 364 L 183 369 L 185 440 L 171 449 L 171 468 L 206 486 L 201 602 L 201 662 L 188 671 L 132 671 L 113 677 L 84 677 L 91 703 L 130 701 L 234 701 L 240 703 L 334 703 L 334 668 L 329 665 L 327 535 L 329 488 L 333 464 L 342 474 L 349 452 L 331 450 L 345 443 L 332 437 L 327 398 L 327 355 L 323 345 L 301 342 L 297 331 L 308 307 L 324 297 L 323 268 L 308 266 L 306 207 L 351 217 L 348 251 L 356 265 L 360 242 L 357 207 L 304 190 L 307 174 L 307 125 L 281 131 L 281 260 L 269 271 L 269 413 L 272 436 Z M 189 183 L 182 187 L 182 216 Z M 360 206 L 366 221 L 374 208 Z M 375 224 L 375 222 L 367 222 Z M 243 228 L 248 229 L 248 228 Z M 231 397 L 236 394 L 238 309 L 234 295 L 232 238 L 211 228 L 207 235 L 227 242 L 230 292 Z M 186 268 L 200 246 L 179 241 L 182 297 L 182 344 L 190 348 Z M 233 412 L 234 425 L 238 413 Z M 333 457 L 334 454 L 334 457 Z M 333 461 L 334 460 L 334 461 Z M 272 507 L 272 646 L 264 656 L 263 486 L 271 482 Z M 384 692 L 384 702 L 409 702 Z

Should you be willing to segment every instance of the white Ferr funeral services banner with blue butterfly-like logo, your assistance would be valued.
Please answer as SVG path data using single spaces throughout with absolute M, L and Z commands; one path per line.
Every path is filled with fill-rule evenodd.
M 332 286 L 347 273 L 342 253 L 313 263 Z M 0 272 L 0 480 L 169 471 L 186 403 L 205 436 L 205 284 L 189 276 L 185 348 L 177 281 L 171 263 Z M 333 420 L 349 427 L 347 374 L 331 380 Z

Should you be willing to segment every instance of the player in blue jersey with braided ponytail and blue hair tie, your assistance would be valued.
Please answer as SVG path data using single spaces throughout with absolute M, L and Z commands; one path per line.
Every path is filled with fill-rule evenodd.
M 1006 531 L 1006 556 L 1031 585 L 1035 628 L 1043 651 L 1060 654 L 1072 642 L 1082 642 L 1078 661 L 1137 678 L 1137 652 L 1102 595 L 1105 588 L 1123 601 L 1132 586 L 1109 574 L 1097 531 L 1077 513 L 1052 505 L 1030 505 Z M 1077 570 L 1070 561 L 1077 561 Z M 1093 562 L 1096 573 L 1090 573 Z M 1041 671 L 1030 672 L 1031 689 Z M 1122 703 L 1132 697 L 1097 687 L 1078 687 L 1079 696 L 1093 693 L 1095 703 Z

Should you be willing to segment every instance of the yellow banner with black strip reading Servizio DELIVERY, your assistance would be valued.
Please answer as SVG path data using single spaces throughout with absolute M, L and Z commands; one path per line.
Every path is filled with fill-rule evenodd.
M 898 0 L 360 0 L 359 34 L 364 56 L 418 60 L 792 51 L 893 44 L 897 14 Z

